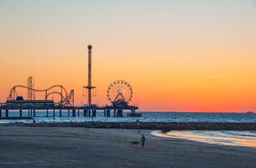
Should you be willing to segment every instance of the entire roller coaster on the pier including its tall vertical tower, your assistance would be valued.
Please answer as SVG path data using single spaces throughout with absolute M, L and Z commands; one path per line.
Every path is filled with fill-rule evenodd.
M 33 81 L 33 83 L 30 81 Z M 10 90 L 10 94 L 8 96 L 8 100 L 15 101 L 15 99 L 19 96 L 17 94 L 17 88 L 26 88 L 26 89 L 28 89 L 28 100 L 35 100 L 35 92 L 45 92 L 45 101 L 48 100 L 49 95 L 52 95 L 52 94 L 60 95 L 60 97 L 61 97 L 60 101 L 55 102 L 54 106 L 74 107 L 74 90 L 71 90 L 70 93 L 68 94 L 67 90 L 62 85 L 53 85 L 52 87 L 46 88 L 44 90 L 39 90 L 39 89 L 33 88 L 34 82 L 35 82 L 34 78 L 29 77 L 28 78 L 28 87 L 26 87 L 24 85 L 15 85 L 14 87 L 12 87 L 12 89 Z M 31 85 L 31 83 L 32 83 L 32 85 Z M 60 88 L 60 92 L 51 91 L 54 88 Z

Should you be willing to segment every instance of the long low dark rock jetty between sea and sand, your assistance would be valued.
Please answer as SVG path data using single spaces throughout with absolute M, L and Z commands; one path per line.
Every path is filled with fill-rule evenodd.
M 58 123 L 1 123 L 2 126 L 19 127 L 86 127 L 97 129 L 138 129 L 137 122 L 58 122 Z M 144 130 L 256 130 L 256 122 L 140 122 Z

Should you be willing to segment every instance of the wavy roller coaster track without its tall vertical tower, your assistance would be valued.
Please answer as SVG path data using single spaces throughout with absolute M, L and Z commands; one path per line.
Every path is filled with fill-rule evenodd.
M 49 93 L 47 93 L 49 90 L 51 90 L 52 88 L 55 88 L 55 87 L 60 87 L 61 92 L 49 92 Z M 61 96 L 61 100 L 60 100 L 60 102 L 56 102 L 55 106 L 74 106 L 74 90 L 71 90 L 70 93 L 67 94 L 67 90 L 61 85 L 53 85 L 52 87 L 46 88 L 44 90 L 29 88 L 29 87 L 26 87 L 24 85 L 16 85 L 10 90 L 8 100 L 15 100 L 15 96 L 18 96 L 16 88 L 27 88 L 27 89 L 31 89 L 35 92 L 45 92 L 45 100 L 47 100 L 47 98 L 51 94 L 58 94 L 58 95 Z M 63 95 L 62 90 L 64 90 L 64 95 Z

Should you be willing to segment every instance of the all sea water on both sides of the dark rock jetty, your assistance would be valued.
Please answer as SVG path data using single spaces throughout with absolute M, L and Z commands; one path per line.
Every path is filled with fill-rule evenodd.
M 52 111 L 49 111 L 49 117 L 46 117 L 46 111 L 37 111 L 35 120 L 36 122 L 256 122 L 256 114 L 251 113 L 175 113 L 175 112 L 143 112 L 143 117 L 127 117 L 124 112 L 124 117 L 104 117 L 103 112 L 97 112 L 96 117 L 84 117 L 83 112 L 76 117 L 68 117 L 67 111 L 62 111 L 62 116 L 59 116 L 59 111 L 55 112 L 53 117 Z M 2 116 L 4 116 L 2 112 Z M 70 113 L 71 115 L 71 113 Z M 19 111 L 9 112 L 9 116 L 19 116 Z M 28 116 L 28 112 L 24 111 L 22 116 Z M 0 123 L 12 122 L 33 122 L 33 120 L 0 120 Z M 174 137 L 181 139 L 189 139 L 202 143 L 221 144 L 221 145 L 234 145 L 234 146 L 250 146 L 256 147 L 256 131 L 228 131 L 228 130 L 188 130 L 163 133 L 153 132 L 155 136 Z

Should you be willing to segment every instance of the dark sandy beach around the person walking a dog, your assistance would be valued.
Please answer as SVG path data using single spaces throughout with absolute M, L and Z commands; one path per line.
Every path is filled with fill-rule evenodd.
M 205 144 L 138 130 L 0 127 L 0 167 L 255 167 L 256 149 Z

